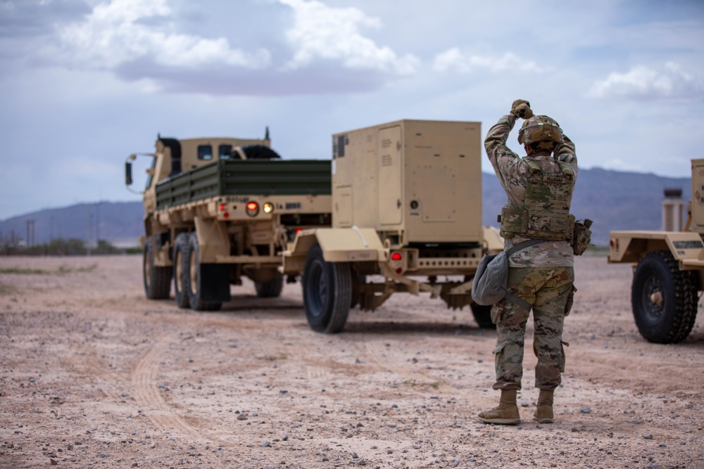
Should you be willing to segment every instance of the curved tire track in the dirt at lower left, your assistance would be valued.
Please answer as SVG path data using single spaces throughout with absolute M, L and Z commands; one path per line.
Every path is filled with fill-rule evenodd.
M 191 439 L 203 436 L 178 415 L 177 409 L 170 406 L 161 396 L 158 387 L 159 364 L 168 352 L 167 339 L 157 342 L 146 352 L 132 372 L 132 387 L 137 404 L 147 411 L 145 415 L 158 428 L 165 432 L 178 431 Z

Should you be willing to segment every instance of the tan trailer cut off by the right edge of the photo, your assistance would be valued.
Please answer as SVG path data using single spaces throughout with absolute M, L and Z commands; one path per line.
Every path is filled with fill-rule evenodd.
M 631 307 L 650 342 L 675 344 L 691 332 L 704 290 L 704 159 L 691 160 L 692 198 L 684 231 L 611 231 L 608 262 L 634 264 Z

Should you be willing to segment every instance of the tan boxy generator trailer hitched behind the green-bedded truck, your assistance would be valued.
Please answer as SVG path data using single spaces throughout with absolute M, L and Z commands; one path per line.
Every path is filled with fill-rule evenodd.
M 482 226 L 479 122 L 401 120 L 332 136 L 332 227 L 303 230 L 282 272 L 303 274 L 310 327 L 337 333 L 348 311 L 374 310 L 396 292 L 470 305 L 485 252 L 503 249 Z

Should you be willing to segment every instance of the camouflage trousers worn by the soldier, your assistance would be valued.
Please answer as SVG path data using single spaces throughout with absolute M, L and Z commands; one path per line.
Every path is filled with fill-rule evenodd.
M 508 273 L 508 292 L 532 304 L 535 333 L 533 350 L 538 357 L 535 386 L 552 390 L 560 385 L 565 371 L 562 324 L 565 305 L 572 293 L 572 267 L 512 268 Z M 529 310 L 509 300 L 491 309 L 496 322 L 496 390 L 520 390 L 523 376 L 523 348 Z

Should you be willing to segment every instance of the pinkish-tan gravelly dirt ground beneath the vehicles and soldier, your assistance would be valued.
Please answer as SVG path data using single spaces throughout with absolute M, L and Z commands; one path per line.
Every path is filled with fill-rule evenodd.
M 631 267 L 577 259 L 552 425 L 479 423 L 495 333 L 396 295 L 314 333 L 298 284 L 216 313 L 144 297 L 141 258 L 0 258 L 0 468 L 704 468 L 704 315 L 641 338 Z M 532 329 L 529 330 L 532 337 Z

